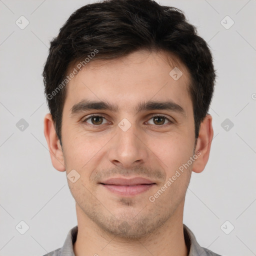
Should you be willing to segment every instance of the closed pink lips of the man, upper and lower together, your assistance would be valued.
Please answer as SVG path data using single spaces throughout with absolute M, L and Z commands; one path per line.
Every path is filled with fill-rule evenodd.
M 133 196 L 148 190 L 156 183 L 146 178 L 135 177 L 130 179 L 110 178 L 100 184 L 117 195 Z

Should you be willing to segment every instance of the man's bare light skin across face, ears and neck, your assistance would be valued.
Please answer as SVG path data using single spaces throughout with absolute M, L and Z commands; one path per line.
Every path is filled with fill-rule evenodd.
M 195 141 L 187 90 L 190 78 L 182 63 L 174 58 L 172 63 L 162 51 L 136 51 L 89 62 L 67 85 L 62 148 L 51 115 L 45 115 L 44 135 L 53 166 L 66 174 L 75 169 L 80 175 L 74 183 L 67 179 L 76 201 L 76 256 L 188 254 L 182 226 L 185 192 L 191 172 L 201 172 L 207 163 L 212 117 L 207 114 L 201 122 Z M 169 75 L 174 66 L 183 73 L 176 81 Z M 82 99 L 106 100 L 116 104 L 118 111 L 95 109 L 71 115 L 71 107 Z M 172 100 L 185 115 L 166 109 L 136 113 L 133 108 L 147 100 Z M 82 122 L 92 113 L 104 118 Z M 172 122 L 160 122 L 150 114 L 164 115 Z M 123 118 L 131 124 L 126 131 L 118 126 Z M 195 152 L 200 156 L 158 198 L 149 201 Z M 121 176 L 141 176 L 156 184 L 129 197 L 99 184 Z

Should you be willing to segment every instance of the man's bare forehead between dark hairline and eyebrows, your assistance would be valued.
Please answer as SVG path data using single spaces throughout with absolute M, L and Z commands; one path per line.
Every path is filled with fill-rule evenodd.
M 180 76 L 178 79 L 174 79 L 175 73 Z M 64 107 L 68 105 L 70 110 L 86 98 L 132 109 L 138 102 L 171 99 L 186 108 L 191 103 L 189 81 L 185 65 L 161 51 L 136 51 L 110 60 L 92 59 L 67 84 Z

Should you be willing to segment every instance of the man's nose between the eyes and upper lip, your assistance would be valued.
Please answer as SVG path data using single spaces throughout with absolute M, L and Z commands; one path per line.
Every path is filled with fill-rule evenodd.
M 116 135 L 108 148 L 108 158 L 118 167 L 131 168 L 146 162 L 148 150 L 135 124 L 126 131 L 116 127 Z

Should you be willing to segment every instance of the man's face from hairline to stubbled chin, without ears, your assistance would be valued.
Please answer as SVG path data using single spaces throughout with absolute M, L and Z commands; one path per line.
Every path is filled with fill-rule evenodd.
M 163 53 L 137 51 L 122 59 L 91 61 L 67 85 L 62 149 L 66 174 L 74 169 L 80 175 L 74 183 L 67 179 L 80 221 L 138 238 L 182 218 L 192 164 L 175 180 L 172 176 L 193 156 L 195 140 L 187 70 L 176 65 L 183 74 L 174 80 L 169 75 L 174 66 Z M 102 104 L 89 109 L 78 104 L 82 100 L 104 101 L 116 109 Z M 148 101 L 174 104 L 138 109 Z M 136 190 L 106 181 L 133 177 L 153 184 Z

